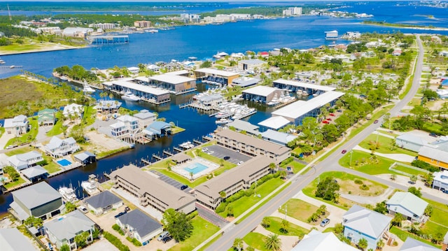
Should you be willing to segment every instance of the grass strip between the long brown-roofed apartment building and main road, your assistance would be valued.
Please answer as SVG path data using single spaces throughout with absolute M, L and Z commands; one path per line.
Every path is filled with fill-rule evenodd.
M 241 213 L 244 213 L 246 210 L 251 208 L 251 206 L 255 205 L 255 203 L 267 196 L 267 194 L 270 194 L 277 187 L 283 184 L 283 182 L 284 181 L 280 178 L 272 178 L 270 180 L 267 180 L 267 182 L 264 182 L 262 185 L 259 185 L 255 189 L 255 193 L 260 194 L 260 198 L 258 198 L 258 196 L 254 196 L 254 193 L 254 195 L 252 196 L 243 196 L 241 197 L 241 199 L 229 203 L 229 205 L 233 207 L 234 216 L 238 217 L 239 215 L 241 215 Z M 227 213 L 224 211 L 222 213 L 219 213 L 219 215 L 226 217 Z

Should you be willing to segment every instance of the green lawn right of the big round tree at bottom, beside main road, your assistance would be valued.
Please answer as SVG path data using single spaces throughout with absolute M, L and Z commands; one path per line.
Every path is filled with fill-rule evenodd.
M 190 251 L 196 248 L 200 243 L 207 240 L 210 236 L 214 235 L 219 227 L 216 227 L 214 224 L 207 222 L 200 216 L 195 216 L 192 220 L 193 224 L 193 233 L 190 238 L 186 239 L 186 241 L 182 241 L 175 245 L 173 248 L 170 248 L 171 251 Z

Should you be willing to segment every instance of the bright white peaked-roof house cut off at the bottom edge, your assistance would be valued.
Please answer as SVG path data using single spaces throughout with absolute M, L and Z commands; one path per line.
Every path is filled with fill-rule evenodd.
M 309 234 L 305 234 L 302 240 L 295 245 L 291 251 L 357 251 L 351 245 L 339 241 L 339 239 L 330 233 L 321 233 L 315 229 L 311 230 Z

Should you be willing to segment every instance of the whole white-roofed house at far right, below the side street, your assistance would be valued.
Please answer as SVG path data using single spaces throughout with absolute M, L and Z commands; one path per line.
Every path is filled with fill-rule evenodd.
M 395 192 L 391 199 L 386 202 L 387 210 L 391 215 L 400 213 L 407 220 L 422 222 L 428 202 L 410 192 Z

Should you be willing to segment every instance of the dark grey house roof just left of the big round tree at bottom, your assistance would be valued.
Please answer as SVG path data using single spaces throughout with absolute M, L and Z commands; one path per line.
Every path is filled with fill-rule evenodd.
M 125 213 L 118 217 L 117 220 L 122 224 L 132 227 L 142 238 L 163 227 L 162 224 L 146 215 L 146 213 L 143 213 L 140 209 Z

